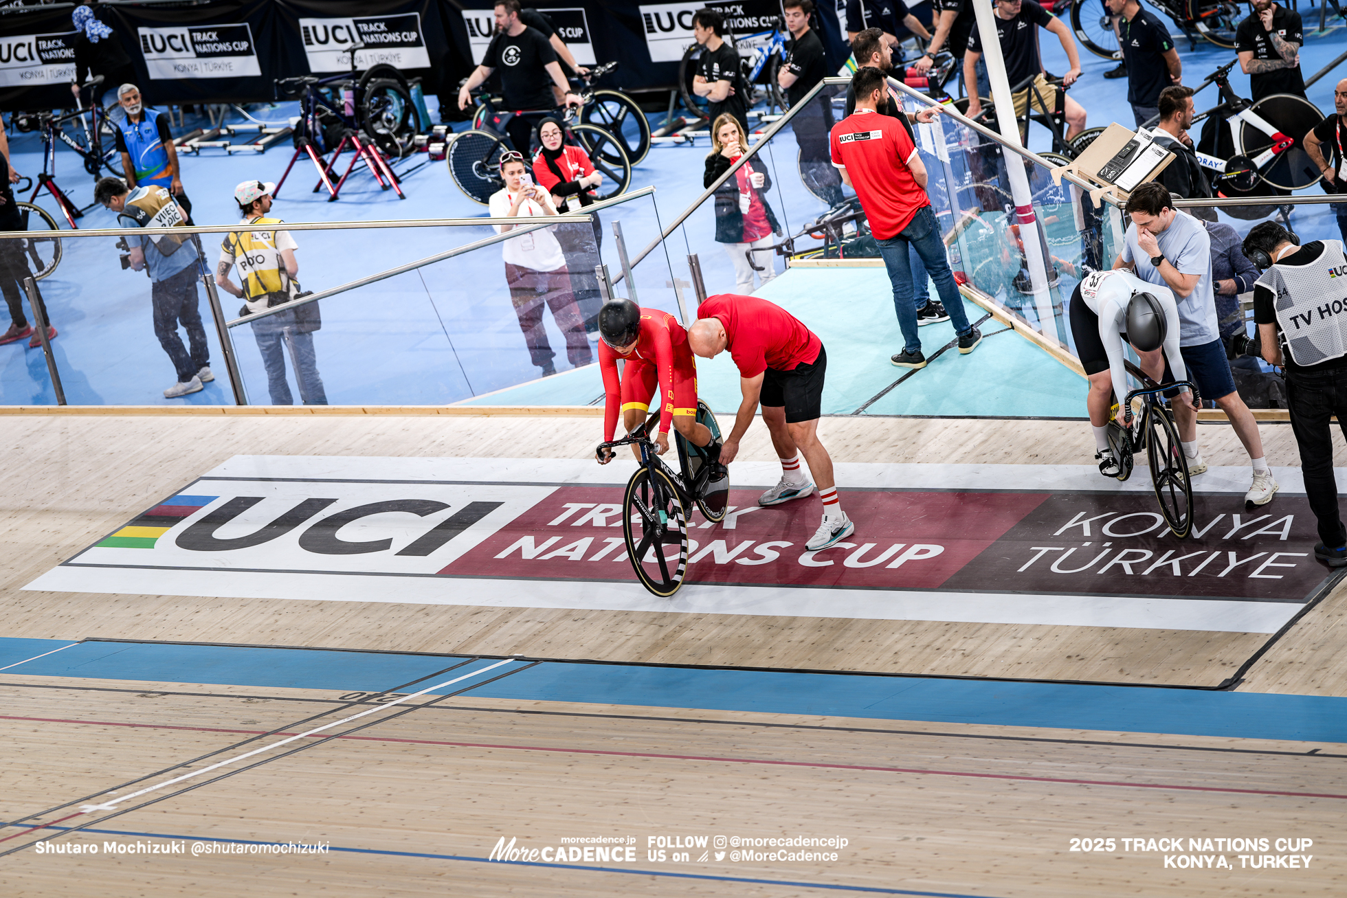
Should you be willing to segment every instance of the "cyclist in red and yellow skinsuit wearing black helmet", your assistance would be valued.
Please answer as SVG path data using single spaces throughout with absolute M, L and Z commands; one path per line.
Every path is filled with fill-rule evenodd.
M 668 451 L 671 421 L 688 443 L 710 446 L 710 428 L 696 420 L 696 364 L 687 345 L 687 331 L 679 320 L 657 308 L 641 308 L 629 299 L 613 299 L 599 310 L 598 330 L 602 341 L 598 364 L 607 396 L 603 442 L 613 439 L 618 411 L 629 432 L 644 421 L 659 386 L 664 405 L 655 440 L 660 454 Z M 621 382 L 617 373 L 620 358 L 625 361 Z M 632 450 L 640 458 L 640 450 L 634 446 Z M 599 454 L 598 460 L 607 464 L 612 458 L 612 451 L 606 451 Z

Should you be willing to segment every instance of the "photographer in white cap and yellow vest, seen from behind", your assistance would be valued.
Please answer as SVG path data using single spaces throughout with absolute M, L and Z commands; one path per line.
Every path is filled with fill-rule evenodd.
M 268 218 L 271 211 L 271 191 L 276 184 L 260 180 L 245 180 L 234 188 L 234 199 L 242 210 L 242 223 L 248 230 L 225 236 L 220 246 L 220 267 L 216 269 L 216 284 L 228 293 L 244 300 L 240 315 L 275 308 L 299 295 L 299 263 L 295 260 L 298 245 L 288 230 L 268 230 L 267 225 L 279 225 L 279 218 Z M 229 280 L 229 269 L 238 265 L 242 287 Z M 272 405 L 294 405 L 295 400 L 286 381 L 286 350 L 290 350 L 299 382 L 299 399 L 304 405 L 326 405 L 323 378 L 318 374 L 314 355 L 314 331 L 318 330 L 318 303 L 287 308 L 252 322 L 253 337 L 261 351 L 267 369 L 267 389 Z

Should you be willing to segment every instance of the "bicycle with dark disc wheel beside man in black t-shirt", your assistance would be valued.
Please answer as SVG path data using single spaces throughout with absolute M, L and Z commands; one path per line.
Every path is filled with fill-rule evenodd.
M 586 97 L 581 96 L 581 106 Z M 575 108 L 564 112 L 555 109 L 521 109 L 516 112 L 497 112 L 496 105 L 486 93 L 478 93 L 478 101 L 484 108 L 481 128 L 469 128 L 459 132 L 454 141 L 449 144 L 446 153 L 449 174 L 458 184 L 458 188 L 473 202 L 486 206 L 492 194 L 505 187 L 500 174 L 501 153 L 519 149 L 511 143 L 505 133 L 505 125 L 515 116 L 541 116 L 555 114 L 562 123 L 562 140 L 571 147 L 579 147 L 590 158 L 594 170 L 602 172 L 602 193 L 595 199 L 612 199 L 626 193 L 632 184 L 632 162 L 618 140 L 606 128 L 574 123 Z M 519 152 L 524 153 L 524 166 L 532 166 L 533 148 L 524 147 Z

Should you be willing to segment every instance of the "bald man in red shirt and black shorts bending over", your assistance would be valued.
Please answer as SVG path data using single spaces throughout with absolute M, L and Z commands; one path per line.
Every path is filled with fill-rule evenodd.
M 711 296 L 696 310 L 696 318 L 687 333 L 688 346 L 702 358 L 730 350 L 744 390 L 734 429 L 721 444 L 721 464 L 738 455 L 740 440 L 761 401 L 762 421 L 781 459 L 783 474 L 781 482 L 758 498 L 758 505 L 780 505 L 814 494 L 814 483 L 800 471 L 803 452 L 823 499 L 823 522 L 806 548 L 826 549 L 851 536 L 855 525 L 838 502 L 832 459 L 818 434 L 823 373 L 828 365 L 823 341 L 791 312 L 757 296 Z

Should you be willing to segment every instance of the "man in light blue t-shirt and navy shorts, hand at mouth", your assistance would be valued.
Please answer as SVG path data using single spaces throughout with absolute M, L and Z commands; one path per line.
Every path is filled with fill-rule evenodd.
M 1153 180 L 1131 191 L 1126 206 L 1131 223 L 1113 267 L 1127 268 L 1142 280 L 1173 291 L 1179 302 L 1179 351 L 1188 377 L 1197 384 L 1202 399 L 1212 400 L 1226 412 L 1249 452 L 1254 481 L 1245 501 L 1266 505 L 1278 489 L 1277 481 L 1263 458 L 1258 423 L 1235 389 L 1226 347 L 1220 342 L 1211 288 L 1211 238 L 1200 221 L 1169 203 L 1169 190 Z M 1167 368 L 1162 353 L 1156 350 L 1138 355 L 1141 369 L 1160 382 Z M 1207 463 L 1197 451 L 1196 415 L 1187 403 L 1175 403 L 1173 411 L 1179 439 L 1188 456 L 1188 473 L 1202 474 Z

